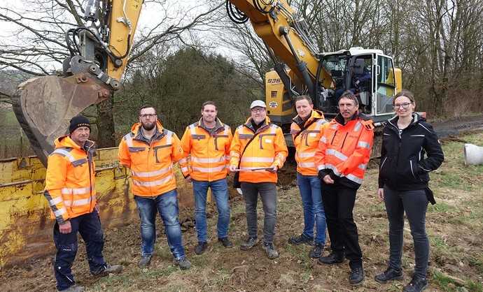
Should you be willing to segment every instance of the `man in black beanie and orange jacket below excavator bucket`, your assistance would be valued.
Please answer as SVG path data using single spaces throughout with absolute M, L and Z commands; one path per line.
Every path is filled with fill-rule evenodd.
M 95 191 L 94 142 L 90 136 L 89 119 L 76 116 L 71 119 L 68 136 L 55 140 L 55 150 L 48 157 L 43 195 L 55 219 L 54 242 L 57 248 L 54 271 L 59 291 L 83 291 L 72 275 L 80 233 L 87 252 L 92 275 L 120 272 L 122 266 L 104 261 L 102 232 Z

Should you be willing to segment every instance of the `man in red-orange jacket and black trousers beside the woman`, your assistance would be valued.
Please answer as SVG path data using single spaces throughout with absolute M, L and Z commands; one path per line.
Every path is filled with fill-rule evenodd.
M 324 130 L 315 154 L 332 249 L 329 256 L 318 258 L 318 263 L 342 263 L 345 256 L 349 259 L 349 282 L 353 285 L 363 282 L 364 270 L 352 210 L 374 138 L 372 121 L 358 113 L 358 106 L 352 92 L 342 94 L 339 114 Z

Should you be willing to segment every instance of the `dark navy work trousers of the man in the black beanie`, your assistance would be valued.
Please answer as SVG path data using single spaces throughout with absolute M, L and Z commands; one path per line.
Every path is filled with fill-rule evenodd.
M 90 272 L 97 274 L 106 265 L 102 256 L 104 247 L 104 234 L 102 233 L 101 220 L 96 210 L 89 214 L 71 218 L 71 233 L 60 233 L 59 224 L 55 222 L 54 242 L 57 247 L 55 254 L 55 279 L 57 279 L 57 289 L 64 290 L 76 284 L 72 275 L 72 263 L 77 254 L 77 232 L 80 233 L 85 242 L 87 261 L 89 262 Z

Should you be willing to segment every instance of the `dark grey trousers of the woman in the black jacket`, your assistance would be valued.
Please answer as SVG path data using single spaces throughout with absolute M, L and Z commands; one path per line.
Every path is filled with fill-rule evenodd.
M 400 270 L 402 256 L 402 233 L 406 213 L 412 240 L 414 241 L 414 276 L 426 278 L 428 270 L 429 241 L 426 235 L 426 191 L 394 191 L 384 186 L 384 204 L 389 219 L 389 267 Z

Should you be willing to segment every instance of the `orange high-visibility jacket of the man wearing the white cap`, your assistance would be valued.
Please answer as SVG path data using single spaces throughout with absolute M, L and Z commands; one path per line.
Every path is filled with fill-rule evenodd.
M 230 147 L 230 166 L 238 166 L 241 152 L 255 133 L 258 135 L 241 157 L 240 182 L 276 182 L 276 173 L 257 168 L 281 168 L 288 154 L 287 145 L 279 126 L 270 124 L 267 117 L 263 125 L 255 132 L 251 126 L 251 118 L 245 124 L 237 127 Z

